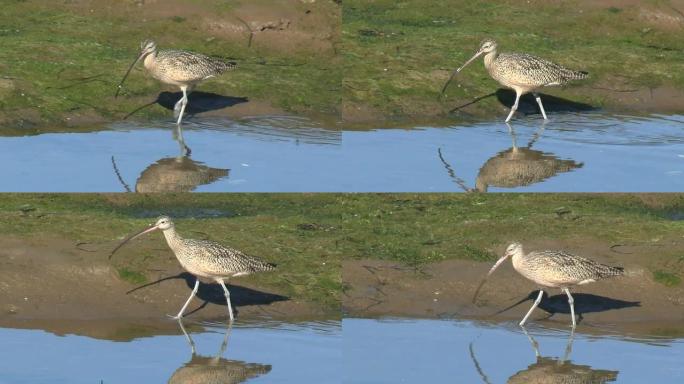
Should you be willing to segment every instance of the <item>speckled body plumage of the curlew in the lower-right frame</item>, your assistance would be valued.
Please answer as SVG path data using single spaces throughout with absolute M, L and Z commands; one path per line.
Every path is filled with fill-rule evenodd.
M 550 287 L 562 287 L 622 275 L 624 270 L 563 251 L 535 251 L 514 265 L 525 277 Z

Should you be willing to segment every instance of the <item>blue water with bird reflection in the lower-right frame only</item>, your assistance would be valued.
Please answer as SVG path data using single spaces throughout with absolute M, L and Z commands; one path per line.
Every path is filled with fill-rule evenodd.
M 564 358 L 569 330 L 531 325 L 537 359 L 513 324 L 344 319 L 342 327 L 347 383 L 684 382 L 684 339 L 576 333 Z

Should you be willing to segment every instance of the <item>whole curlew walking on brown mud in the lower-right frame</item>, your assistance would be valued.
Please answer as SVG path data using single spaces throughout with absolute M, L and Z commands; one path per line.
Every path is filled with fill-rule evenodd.
M 599 264 L 584 257 L 576 256 L 563 251 L 535 251 L 525 254 L 520 243 L 513 243 L 506 248 L 506 253 L 489 270 L 487 276 L 482 280 L 475 290 L 473 302 L 477 298 L 480 288 L 484 285 L 487 278 L 499 267 L 509 256 L 513 262 L 513 268 L 518 273 L 529 280 L 532 280 L 540 287 L 560 288 L 568 296 L 570 305 L 570 316 L 572 316 L 572 328 L 575 329 L 575 305 L 570 287 L 593 283 L 597 280 L 611 276 L 620 276 L 624 273 L 621 267 L 612 267 Z M 525 317 L 520 321 L 523 326 L 530 317 L 532 311 L 537 308 L 544 294 L 544 289 L 539 289 L 539 295 L 532 304 L 532 308 L 527 311 Z

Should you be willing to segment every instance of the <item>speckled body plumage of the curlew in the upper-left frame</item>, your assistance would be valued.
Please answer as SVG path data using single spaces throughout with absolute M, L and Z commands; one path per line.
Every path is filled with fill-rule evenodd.
M 198 82 L 237 68 L 233 61 L 188 51 L 160 50 L 154 59 L 155 77 L 154 72 L 159 72 L 183 83 Z

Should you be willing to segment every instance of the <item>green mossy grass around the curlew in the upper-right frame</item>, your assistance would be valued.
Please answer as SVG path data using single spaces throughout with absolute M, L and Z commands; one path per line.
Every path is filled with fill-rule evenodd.
M 445 113 L 475 97 L 494 92 L 482 60 L 459 74 L 448 98 L 438 94 L 448 72 L 463 64 L 485 37 L 501 51 L 532 53 L 570 68 L 587 70 L 581 91 L 561 97 L 596 106 L 610 104 L 616 89 L 669 85 L 684 90 L 684 39 L 639 17 L 636 8 L 601 8 L 588 2 L 429 0 L 345 1 L 343 47 L 344 100 L 370 106 L 385 115 Z M 640 6 L 672 12 L 657 1 Z M 579 12 L 579 10 L 582 12 Z M 553 92 L 553 91 L 551 91 Z M 499 111 L 490 97 L 468 113 Z

